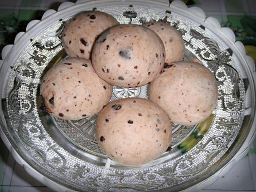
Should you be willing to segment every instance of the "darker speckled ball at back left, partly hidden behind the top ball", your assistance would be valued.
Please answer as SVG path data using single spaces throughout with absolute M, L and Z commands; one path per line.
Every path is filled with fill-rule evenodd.
M 69 57 L 89 59 L 96 38 L 105 29 L 118 24 L 118 21 L 107 13 L 85 11 L 77 14 L 67 22 L 62 43 Z

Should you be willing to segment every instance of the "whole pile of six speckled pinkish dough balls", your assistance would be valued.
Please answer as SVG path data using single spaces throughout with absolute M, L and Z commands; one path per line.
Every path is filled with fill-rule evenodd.
M 112 160 L 142 165 L 170 146 L 171 122 L 207 119 L 218 100 L 214 75 L 184 62 L 181 34 L 170 24 L 119 24 L 107 13 L 85 11 L 67 22 L 62 44 L 69 58 L 42 78 L 40 94 L 49 114 L 78 120 L 99 113 L 96 139 Z M 109 102 L 112 86 L 149 84 L 149 100 Z

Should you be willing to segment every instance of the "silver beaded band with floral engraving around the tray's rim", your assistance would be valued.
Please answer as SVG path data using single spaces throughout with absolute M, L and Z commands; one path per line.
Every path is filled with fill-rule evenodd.
M 207 134 L 186 154 L 162 165 L 136 170 L 105 169 L 59 146 L 41 124 L 36 100 L 42 72 L 63 49 L 60 29 L 67 19 L 52 24 L 34 38 L 13 65 L 6 95 L 9 129 L 44 170 L 42 172 L 51 173 L 51 178 L 62 184 L 65 180 L 65 184 L 75 185 L 77 190 L 157 191 L 193 181 L 225 154 L 236 139 L 243 120 L 245 88 L 229 50 L 207 36 L 204 29 L 170 13 L 128 6 L 105 7 L 102 11 L 112 14 L 120 23 L 165 19 L 182 33 L 186 49 L 214 73 L 219 83 L 218 105 Z

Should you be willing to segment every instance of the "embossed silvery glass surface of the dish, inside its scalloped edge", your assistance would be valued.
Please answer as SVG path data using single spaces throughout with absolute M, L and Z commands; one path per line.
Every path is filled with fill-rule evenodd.
M 66 14 L 63 11 L 62 18 L 52 18 L 51 23 L 45 24 L 47 27 L 18 53 L 7 74 L 2 121 L 8 124 L 3 129 L 15 149 L 41 174 L 75 190 L 175 191 L 214 174 L 218 167 L 223 166 L 220 160 L 227 160 L 224 155 L 232 156 L 229 150 L 240 138 L 245 119 L 248 85 L 244 83 L 230 49 L 203 28 L 165 12 L 165 9 L 136 3 L 133 6 L 105 3 L 99 7 L 88 4 L 87 8 L 93 8 L 91 6 L 112 14 L 120 23 L 161 20 L 182 33 L 186 47 L 184 60 L 200 61 L 218 80 L 218 105 L 210 126 L 189 151 L 181 154 L 177 146 L 200 125 L 173 125 L 171 149 L 146 165 L 125 167 L 108 159 L 99 149 L 94 138 L 96 115 L 78 121 L 64 121 L 40 110 L 40 78 L 54 63 L 66 57 L 61 45 L 61 30 L 73 14 L 84 10 L 78 5 L 76 9 L 66 9 Z M 113 88 L 112 100 L 124 97 L 147 98 L 147 86 Z

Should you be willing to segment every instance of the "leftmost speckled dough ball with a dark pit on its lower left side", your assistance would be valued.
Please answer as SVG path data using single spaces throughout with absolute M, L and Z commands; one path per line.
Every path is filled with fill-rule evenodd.
M 77 120 L 102 110 L 112 96 L 112 86 L 98 77 L 89 60 L 67 58 L 46 72 L 40 94 L 51 115 Z

